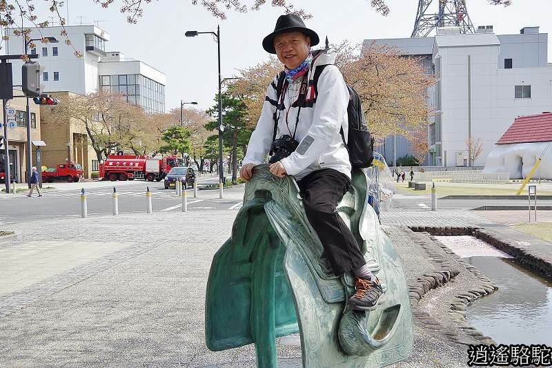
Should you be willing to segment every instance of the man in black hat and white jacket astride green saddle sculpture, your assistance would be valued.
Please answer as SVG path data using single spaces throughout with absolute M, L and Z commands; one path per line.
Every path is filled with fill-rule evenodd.
M 295 177 L 306 215 L 333 273 L 355 275 L 356 292 L 349 306 L 370 311 L 383 293 L 380 280 L 366 265 L 355 236 L 335 211 L 352 186 L 351 162 L 344 144 L 350 95 L 334 65 L 326 66 L 316 84 L 312 83 L 316 66 L 333 64 L 335 59 L 325 50 L 311 52 L 311 46 L 318 43 L 316 32 L 295 14 L 279 17 L 274 32 L 264 38 L 264 50 L 276 54 L 284 64 L 285 79 L 277 76 L 268 86 L 240 175 L 250 180 L 253 166 L 264 163 L 270 151 L 270 172 L 277 177 Z

